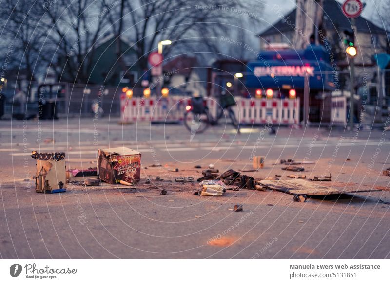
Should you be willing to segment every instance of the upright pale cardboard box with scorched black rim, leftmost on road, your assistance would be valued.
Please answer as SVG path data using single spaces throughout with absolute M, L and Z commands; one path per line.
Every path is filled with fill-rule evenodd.
M 37 159 L 35 191 L 37 193 L 65 192 L 65 153 L 39 153 L 33 151 L 31 157 Z

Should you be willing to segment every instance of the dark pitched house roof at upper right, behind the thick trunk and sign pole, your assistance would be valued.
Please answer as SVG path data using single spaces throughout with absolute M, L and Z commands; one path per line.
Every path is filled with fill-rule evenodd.
M 289 12 L 285 18 L 291 20 L 292 23 L 295 23 L 295 11 L 293 9 Z M 330 29 L 351 29 L 351 21 L 347 18 L 342 11 L 341 4 L 336 0 L 324 0 L 324 20 L 323 20 L 323 28 L 325 30 Z M 367 32 L 373 34 L 386 34 L 386 30 L 378 27 L 371 21 L 358 17 L 356 18 L 356 29 L 358 32 Z M 267 36 L 274 35 L 283 32 L 293 31 L 291 25 L 285 23 L 285 19 L 280 19 L 278 22 L 273 24 L 271 27 L 266 29 L 264 32 L 260 33 L 259 36 Z

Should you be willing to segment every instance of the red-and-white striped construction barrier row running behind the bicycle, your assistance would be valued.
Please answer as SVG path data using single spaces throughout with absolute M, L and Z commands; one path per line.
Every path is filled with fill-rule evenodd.
M 136 121 L 174 123 L 183 120 L 189 97 L 171 96 L 168 98 L 128 99 L 120 97 L 121 120 L 123 123 Z M 241 124 L 298 124 L 299 98 L 296 99 L 251 99 L 236 98 L 234 113 Z M 213 117 L 216 117 L 218 102 L 215 98 L 206 99 Z

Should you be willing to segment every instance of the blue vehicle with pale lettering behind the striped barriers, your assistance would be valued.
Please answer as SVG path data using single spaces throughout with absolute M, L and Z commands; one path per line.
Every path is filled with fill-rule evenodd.
M 299 97 L 300 121 L 303 116 L 305 73 L 310 90 L 309 121 L 321 122 L 328 106 L 325 98 L 338 84 L 333 54 L 323 46 L 309 45 L 304 50 L 261 51 L 256 61 L 248 62 L 245 87 L 250 97 Z M 325 115 L 327 116 L 327 115 Z

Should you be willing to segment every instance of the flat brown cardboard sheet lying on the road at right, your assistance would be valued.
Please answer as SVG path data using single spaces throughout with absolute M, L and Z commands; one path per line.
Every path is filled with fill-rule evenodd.
M 319 182 L 310 182 L 304 179 L 293 180 L 261 180 L 261 185 L 291 195 L 337 195 L 363 192 L 376 192 L 381 190 L 367 190 L 357 188 L 333 188 L 321 186 Z

